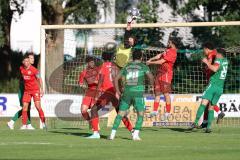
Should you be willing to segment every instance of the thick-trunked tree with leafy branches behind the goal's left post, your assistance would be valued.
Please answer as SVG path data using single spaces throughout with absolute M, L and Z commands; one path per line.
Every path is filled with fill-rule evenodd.
M 41 3 L 42 23 L 45 25 L 84 24 L 96 21 L 97 4 L 94 0 L 42 0 Z M 63 30 L 48 30 L 46 33 L 46 54 L 48 56 L 46 82 L 48 82 L 53 71 L 64 61 L 64 32 Z M 62 78 L 60 81 L 63 82 Z

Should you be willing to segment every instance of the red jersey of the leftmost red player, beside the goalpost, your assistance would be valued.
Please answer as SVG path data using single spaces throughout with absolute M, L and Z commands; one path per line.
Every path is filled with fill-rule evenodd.
M 35 67 L 30 66 L 28 69 L 26 69 L 21 66 L 20 72 L 23 77 L 25 91 L 40 90 L 37 82 L 37 76 L 39 74 L 39 71 Z

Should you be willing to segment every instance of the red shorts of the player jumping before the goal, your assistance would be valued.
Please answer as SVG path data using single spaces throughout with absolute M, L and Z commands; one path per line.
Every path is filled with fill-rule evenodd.
M 172 74 L 158 75 L 155 79 L 155 93 L 170 93 L 172 91 Z

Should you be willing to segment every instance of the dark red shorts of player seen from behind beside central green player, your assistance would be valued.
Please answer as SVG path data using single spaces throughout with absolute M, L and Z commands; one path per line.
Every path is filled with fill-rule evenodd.
M 102 91 L 97 100 L 97 105 L 101 105 L 102 107 L 104 107 L 110 102 L 114 107 L 118 106 L 119 100 L 116 97 L 116 91 L 114 88 L 110 88 L 106 91 Z

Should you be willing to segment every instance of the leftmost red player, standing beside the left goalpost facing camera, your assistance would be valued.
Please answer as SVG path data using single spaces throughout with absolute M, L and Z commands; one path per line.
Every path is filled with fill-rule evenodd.
M 41 96 L 43 96 L 42 79 L 40 78 L 39 71 L 30 64 L 28 55 L 23 57 L 23 65 L 20 67 L 20 72 L 24 81 L 24 94 L 22 98 L 22 127 L 27 129 L 28 107 L 33 97 L 35 107 L 39 113 L 39 117 L 43 124 L 43 128 L 47 129 L 45 124 L 45 116 L 41 108 Z

